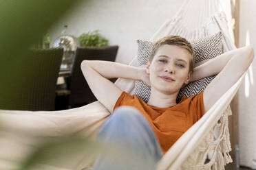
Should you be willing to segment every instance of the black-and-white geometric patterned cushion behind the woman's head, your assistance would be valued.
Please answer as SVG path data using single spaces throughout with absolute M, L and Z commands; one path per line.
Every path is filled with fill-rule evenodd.
M 195 51 L 195 64 L 204 62 L 211 58 L 215 58 L 223 53 L 222 47 L 222 32 L 218 32 L 213 36 L 207 36 L 198 40 L 191 41 L 193 50 Z M 153 43 L 149 41 L 137 40 L 138 42 L 138 66 L 145 67 L 147 59 L 151 54 Z M 215 76 L 206 77 L 195 82 L 191 82 L 184 88 L 180 89 L 178 93 L 177 102 L 180 101 L 182 96 L 190 97 L 201 93 L 202 90 L 213 80 Z M 135 95 L 143 99 L 146 103 L 149 101 L 151 88 L 144 82 L 135 82 Z

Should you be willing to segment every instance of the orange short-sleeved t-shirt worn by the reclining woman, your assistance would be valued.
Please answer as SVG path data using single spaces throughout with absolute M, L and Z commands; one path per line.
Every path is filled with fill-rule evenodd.
M 182 97 L 175 106 L 158 108 L 123 91 L 113 110 L 118 106 L 133 106 L 145 116 L 158 138 L 163 154 L 204 114 L 203 92 L 189 98 Z

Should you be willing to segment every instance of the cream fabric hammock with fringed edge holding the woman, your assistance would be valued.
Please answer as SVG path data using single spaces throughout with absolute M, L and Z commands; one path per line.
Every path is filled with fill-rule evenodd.
M 222 0 L 222 2 L 225 1 Z M 178 13 L 160 27 L 151 41 L 168 34 L 176 34 L 193 40 L 222 30 L 224 52 L 235 49 L 228 33 L 229 23 L 226 19 L 228 14 L 225 14 L 219 6 L 220 1 L 216 0 L 184 1 Z M 200 7 L 202 7 L 201 13 L 198 12 L 200 10 L 195 10 Z M 191 19 L 191 16 L 195 19 Z M 198 23 L 191 21 L 198 21 Z M 137 65 L 136 57 L 130 65 Z M 167 151 L 158 163 L 158 170 L 224 169 L 224 165 L 232 162 L 228 154 L 231 151 L 228 132 L 228 115 L 231 114 L 229 103 L 243 77 L 244 75 Z M 127 93 L 134 94 L 135 82 L 133 80 L 119 78 L 115 84 Z M 109 114 L 99 101 L 81 108 L 54 112 L 0 110 L 0 121 L 3 120 L 0 123 L 0 130 L 2 130 L 0 131 L 0 169 L 17 169 L 24 156 L 27 156 L 39 141 L 33 136 L 43 138 L 76 133 L 94 136 Z M 68 163 L 42 165 L 41 169 L 80 170 L 92 165 L 93 161 L 94 158 L 85 153 L 67 160 Z

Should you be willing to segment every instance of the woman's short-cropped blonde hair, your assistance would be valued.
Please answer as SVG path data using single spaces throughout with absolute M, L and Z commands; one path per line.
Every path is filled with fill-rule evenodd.
M 187 41 L 185 38 L 181 36 L 164 36 L 163 38 L 160 38 L 157 42 L 153 44 L 151 56 L 149 57 L 149 61 L 152 62 L 153 57 L 156 54 L 156 51 L 162 46 L 162 45 L 176 45 L 178 47 L 183 47 L 184 49 L 187 49 L 191 55 L 189 55 L 189 71 L 193 71 L 193 67 L 195 64 L 195 53 L 193 51 L 193 47 L 191 46 L 190 42 Z

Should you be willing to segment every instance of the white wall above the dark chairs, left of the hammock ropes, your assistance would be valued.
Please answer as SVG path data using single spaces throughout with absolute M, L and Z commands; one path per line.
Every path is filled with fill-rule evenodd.
M 98 29 L 109 45 L 119 45 L 116 62 L 129 64 L 137 53 L 136 40 L 149 40 L 183 1 L 82 1 L 52 27 L 50 38 L 53 42 L 60 36 L 64 25 L 68 25 L 66 34 L 76 37 Z

